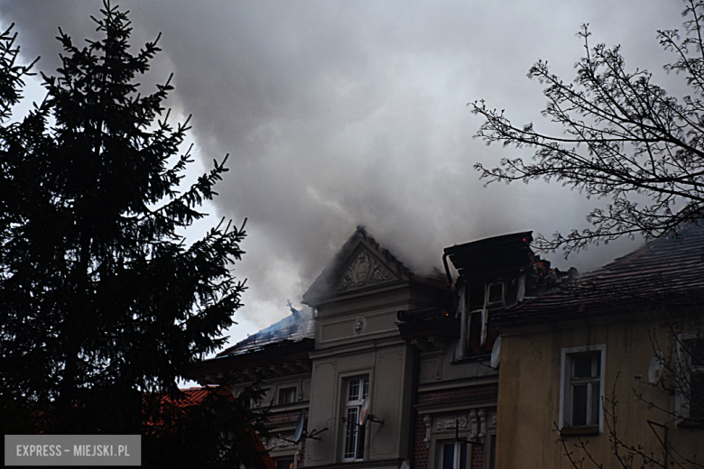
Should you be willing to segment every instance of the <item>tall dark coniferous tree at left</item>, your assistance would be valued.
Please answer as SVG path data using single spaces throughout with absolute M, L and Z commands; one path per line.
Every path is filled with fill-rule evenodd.
M 101 13 L 99 41 L 80 48 L 60 31 L 47 97 L 14 122 L 28 68 L 10 31 L 0 36 L 5 433 L 139 433 L 144 393 L 175 391 L 223 345 L 245 289 L 229 271 L 244 224 L 221 222 L 190 245 L 181 235 L 225 161 L 179 191 L 189 127 L 162 107 L 171 78 L 144 96 L 135 83 L 158 38 L 133 55 L 126 13 Z

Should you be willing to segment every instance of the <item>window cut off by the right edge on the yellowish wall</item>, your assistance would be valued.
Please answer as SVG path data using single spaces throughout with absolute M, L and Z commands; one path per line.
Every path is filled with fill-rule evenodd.
M 677 408 L 689 423 L 691 420 L 701 423 L 704 420 L 704 338 L 683 334 L 678 339 L 677 368 L 681 370 L 682 379 L 677 380 Z

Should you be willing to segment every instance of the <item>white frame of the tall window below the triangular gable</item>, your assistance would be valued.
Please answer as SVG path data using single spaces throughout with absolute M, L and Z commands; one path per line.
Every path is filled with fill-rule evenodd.
M 358 386 L 358 391 L 355 396 L 350 396 L 350 388 L 353 385 Z M 343 409 L 343 422 L 345 425 L 342 430 L 342 462 L 351 461 L 364 461 L 365 451 L 366 451 L 366 431 L 361 431 L 362 428 L 359 424 L 359 417 L 362 411 L 362 406 L 365 400 L 369 399 L 369 375 L 362 376 L 352 376 L 345 380 L 344 385 L 344 402 L 345 408 Z M 353 399 L 351 399 L 353 398 Z M 350 418 L 354 415 L 354 418 Z M 354 447 L 354 455 L 350 455 L 347 451 L 348 447 Z M 361 457 L 360 454 L 361 453 Z

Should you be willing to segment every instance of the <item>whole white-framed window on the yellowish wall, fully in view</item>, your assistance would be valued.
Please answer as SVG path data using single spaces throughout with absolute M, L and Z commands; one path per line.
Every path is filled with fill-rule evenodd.
M 603 430 L 606 345 L 562 349 L 560 430 L 563 433 L 597 433 Z

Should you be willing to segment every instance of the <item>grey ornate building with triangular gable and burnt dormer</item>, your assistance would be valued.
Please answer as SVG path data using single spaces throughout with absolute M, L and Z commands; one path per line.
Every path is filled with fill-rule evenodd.
M 460 273 L 456 288 L 449 266 L 415 274 L 358 227 L 304 294 L 308 308 L 202 363 L 194 378 L 234 390 L 264 378 L 269 391 L 254 405 L 271 409 L 265 444 L 281 467 L 294 459 L 300 467 L 494 467 L 496 334 L 479 330 L 484 342 L 473 342 L 468 292 L 478 281 L 488 289 L 485 322 L 515 301 L 518 273 L 532 262 L 528 243 L 516 248 L 521 265 L 493 272 L 507 282 L 496 300 L 486 275 Z M 486 252 L 480 247 L 475 254 Z M 315 438 L 296 445 L 301 409 Z

